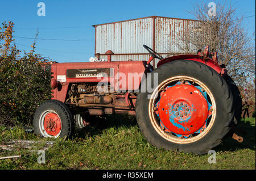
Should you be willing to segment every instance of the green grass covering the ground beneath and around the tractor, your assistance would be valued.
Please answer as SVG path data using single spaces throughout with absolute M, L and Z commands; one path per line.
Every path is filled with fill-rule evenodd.
M 214 148 L 216 163 L 208 163 L 209 155 L 178 153 L 154 148 L 148 144 L 131 117 L 111 117 L 101 129 L 77 130 L 72 140 L 38 138 L 23 129 L 0 127 L 0 144 L 11 139 L 52 140 L 46 150 L 46 163 L 37 162 L 37 152 L 26 149 L 0 150 L 0 169 L 255 169 L 255 118 L 243 120 L 239 127 L 247 134 L 241 144 L 231 137 Z M 38 149 L 43 144 L 38 145 Z

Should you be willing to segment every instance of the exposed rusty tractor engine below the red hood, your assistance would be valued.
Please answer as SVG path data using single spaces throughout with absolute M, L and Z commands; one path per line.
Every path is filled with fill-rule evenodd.
M 86 108 L 89 115 L 128 113 L 135 115 L 136 93 L 112 92 L 110 85 L 93 83 L 72 83 L 65 103 Z

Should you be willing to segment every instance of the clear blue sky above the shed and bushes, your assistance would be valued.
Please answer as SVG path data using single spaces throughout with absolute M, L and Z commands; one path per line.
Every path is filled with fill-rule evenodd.
M 46 5 L 46 16 L 38 16 L 39 2 Z M 167 16 L 172 18 L 195 19 L 187 10 L 196 1 L 2 1 L 0 22 L 15 23 L 15 43 L 20 50 L 31 49 L 32 39 L 90 39 L 93 41 L 36 41 L 36 53 L 43 54 L 57 62 L 88 61 L 94 56 L 93 24 L 116 22 L 119 20 L 142 18 L 146 16 Z M 200 1 L 197 1 L 200 2 Z M 216 1 L 205 1 L 216 2 Z M 221 1 L 220 1 L 221 2 Z M 249 32 L 255 31 L 255 1 L 232 1 L 237 14 L 245 17 L 245 26 Z M 18 37 L 17 37 L 18 36 Z

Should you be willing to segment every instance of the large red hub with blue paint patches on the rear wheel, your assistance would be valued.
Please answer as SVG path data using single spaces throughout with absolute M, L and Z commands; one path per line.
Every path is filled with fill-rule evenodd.
M 189 135 L 205 126 L 208 102 L 203 93 L 188 83 L 169 86 L 160 93 L 156 107 L 167 132 Z

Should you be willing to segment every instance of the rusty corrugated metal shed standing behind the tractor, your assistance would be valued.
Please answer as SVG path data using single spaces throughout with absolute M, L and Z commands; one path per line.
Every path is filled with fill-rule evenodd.
M 149 16 L 121 22 L 97 24 L 95 27 L 95 56 L 107 60 L 105 52 L 112 50 L 112 61 L 148 60 L 143 44 L 163 57 L 183 53 L 177 44 L 183 43 L 184 33 L 194 31 L 198 20 Z M 156 59 L 156 58 L 155 58 Z M 153 62 L 157 64 L 158 59 Z

